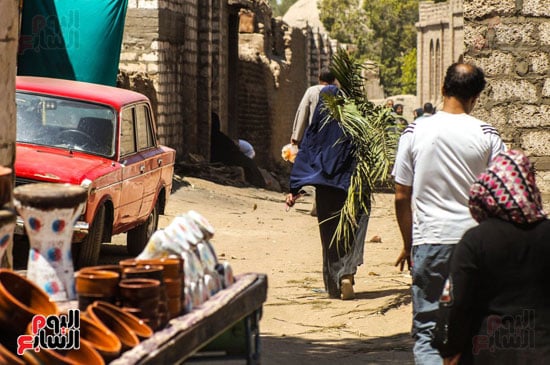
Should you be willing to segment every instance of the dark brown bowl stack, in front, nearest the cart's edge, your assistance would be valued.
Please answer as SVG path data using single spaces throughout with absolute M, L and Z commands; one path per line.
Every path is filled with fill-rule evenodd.
M 155 279 L 122 279 L 118 284 L 123 309 L 141 319 L 152 329 L 160 327 L 160 281 Z

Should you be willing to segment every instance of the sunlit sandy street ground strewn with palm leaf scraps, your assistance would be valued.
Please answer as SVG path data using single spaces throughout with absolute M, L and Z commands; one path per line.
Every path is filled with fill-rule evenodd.
M 176 187 L 159 224 L 196 210 L 215 227 L 217 254 L 235 273 L 268 275 L 262 364 L 413 363 L 410 277 L 393 266 L 401 239 L 391 194 L 375 196 L 356 299 L 341 301 L 319 293 L 321 246 L 317 220 L 309 214 L 312 197 L 286 212 L 281 193 L 185 181 L 190 185 Z M 370 242 L 373 236 L 382 242 Z

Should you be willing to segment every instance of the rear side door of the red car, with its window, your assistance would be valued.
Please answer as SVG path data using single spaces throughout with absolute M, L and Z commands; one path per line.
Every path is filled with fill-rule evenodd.
M 166 163 L 163 151 L 157 147 L 153 133 L 153 119 L 148 104 L 135 107 L 137 149 L 141 156 L 143 201 L 140 215 L 147 215 L 153 208 L 160 185 L 161 168 Z

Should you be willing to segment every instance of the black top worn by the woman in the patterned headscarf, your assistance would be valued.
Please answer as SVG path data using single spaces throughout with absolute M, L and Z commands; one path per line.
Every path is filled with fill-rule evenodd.
M 434 346 L 461 364 L 550 363 L 550 220 L 468 230 L 450 262 Z

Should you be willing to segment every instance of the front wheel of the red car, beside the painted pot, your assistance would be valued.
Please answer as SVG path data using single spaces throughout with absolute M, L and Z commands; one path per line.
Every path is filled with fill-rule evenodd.
M 76 258 L 75 267 L 77 269 L 97 265 L 97 261 L 99 260 L 99 251 L 101 250 L 104 225 L 105 206 L 102 205 L 97 210 L 95 218 L 90 225 L 88 235 L 84 241 L 82 243 L 73 244 L 73 249 L 76 249 L 74 257 Z

